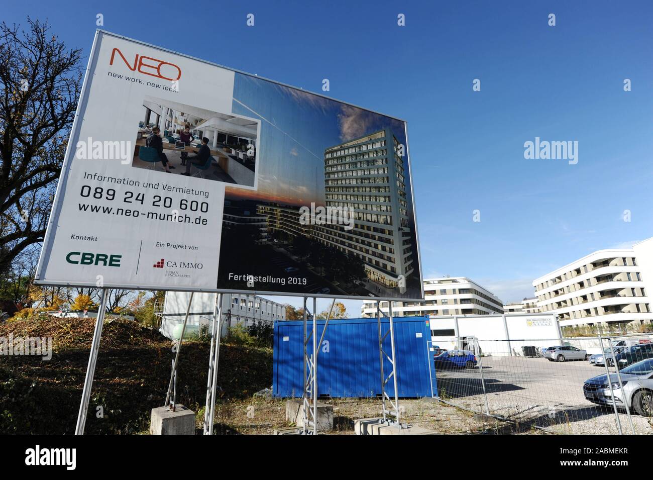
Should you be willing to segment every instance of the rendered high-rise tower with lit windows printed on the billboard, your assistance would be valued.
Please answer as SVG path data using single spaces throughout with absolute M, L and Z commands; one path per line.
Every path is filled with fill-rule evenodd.
M 353 212 L 354 224 L 315 225 L 313 235 L 358 257 L 370 280 L 404 293 L 413 250 L 402 148 L 389 129 L 327 148 L 327 209 Z

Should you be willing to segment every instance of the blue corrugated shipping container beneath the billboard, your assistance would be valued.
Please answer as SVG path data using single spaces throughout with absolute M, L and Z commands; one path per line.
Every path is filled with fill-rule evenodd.
M 431 372 L 433 359 L 428 349 L 431 330 L 428 317 L 395 317 L 394 347 L 400 397 L 432 396 Z M 317 340 L 322 334 L 324 320 L 317 321 Z M 313 321 L 307 322 L 308 334 Z M 389 328 L 388 319 L 381 319 L 381 330 Z M 274 368 L 272 392 L 276 397 L 302 396 L 304 359 L 303 321 L 274 322 Z M 377 319 L 331 320 L 322 345 L 318 345 L 317 393 L 331 397 L 374 397 L 381 394 L 379 368 L 379 328 Z M 383 349 L 391 355 L 390 335 L 383 341 Z M 308 351 L 313 351 L 311 338 Z M 390 362 L 384 357 L 383 372 L 390 373 Z M 435 385 L 435 383 L 434 383 Z M 436 388 L 434 386 L 434 388 Z M 387 394 L 394 396 L 390 379 Z

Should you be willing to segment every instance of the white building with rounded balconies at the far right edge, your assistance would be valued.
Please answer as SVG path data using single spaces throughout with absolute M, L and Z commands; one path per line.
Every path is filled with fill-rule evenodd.
M 562 327 L 647 323 L 653 287 L 653 238 L 630 249 L 595 251 L 533 281 L 542 313 Z

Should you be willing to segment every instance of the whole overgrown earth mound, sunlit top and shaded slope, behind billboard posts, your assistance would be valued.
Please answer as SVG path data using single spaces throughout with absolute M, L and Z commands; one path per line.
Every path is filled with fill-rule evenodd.
M 95 319 L 12 321 L 0 336 L 53 338 L 52 360 L 0 357 L 0 434 L 72 434 L 82 397 Z M 209 345 L 185 341 L 177 401 L 198 411 L 206 401 Z M 170 380 L 172 343 L 135 321 L 106 321 L 89 402 L 88 434 L 145 432 L 152 408 L 163 406 Z M 247 398 L 272 384 L 272 349 L 223 344 L 218 398 Z

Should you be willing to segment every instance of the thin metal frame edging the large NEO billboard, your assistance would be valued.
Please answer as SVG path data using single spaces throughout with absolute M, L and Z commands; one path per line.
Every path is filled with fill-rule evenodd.
M 91 54 L 89 55 L 89 61 L 88 65 L 86 67 L 86 74 L 84 75 L 84 81 L 82 82 L 82 89 L 80 91 L 80 100 L 77 104 L 77 110 L 75 113 L 75 118 L 72 122 L 72 127 L 71 127 L 71 135 L 69 138 L 69 142 L 66 148 L 65 156 L 63 159 L 63 165 L 61 167 L 61 177 L 59 178 L 59 184 L 57 185 L 57 191 L 54 196 L 53 204 L 52 204 L 52 210 L 50 211 L 50 218 L 48 219 L 48 225 L 46 229 L 46 234 L 44 236 L 43 240 L 43 245 L 40 251 L 39 255 L 39 264 L 37 266 L 37 272 L 35 274 L 35 283 L 37 285 L 52 285 L 52 286 L 63 286 L 63 287 L 103 287 L 103 288 L 116 288 L 116 289 L 124 289 L 124 288 L 129 288 L 129 289 L 135 289 L 135 290 L 165 290 L 165 291 L 191 291 L 189 287 L 161 287 L 159 286 L 152 286 L 152 285 L 137 285 L 137 284 L 126 284 L 126 283 L 103 283 L 103 285 L 97 285 L 97 283 L 92 283 L 92 282 L 61 282 L 61 281 L 48 281 L 48 280 L 39 280 L 40 276 L 42 274 L 42 270 L 44 267 L 44 264 L 50 257 L 50 253 L 52 251 L 52 225 L 56 224 L 56 222 L 59 219 L 59 216 L 61 215 L 61 208 L 63 205 L 63 194 L 65 193 L 66 189 L 66 184 L 69 176 L 69 163 L 72 158 L 71 155 L 71 148 L 74 149 L 74 145 L 77 144 L 79 136 L 80 136 L 80 127 L 81 127 L 81 121 L 80 118 L 84 118 L 84 113 L 86 112 L 86 106 L 88 104 L 88 95 L 89 95 L 89 86 L 90 83 L 92 82 L 91 76 L 89 76 L 89 72 L 95 70 L 95 65 L 97 64 L 97 56 L 99 53 L 99 45 L 100 42 L 98 42 L 98 39 L 100 38 L 100 35 L 107 35 L 109 37 L 116 37 L 118 39 L 123 39 L 127 40 L 129 42 L 134 42 L 136 44 L 148 46 L 150 48 L 156 48 L 157 50 L 161 50 L 163 52 L 167 52 L 169 54 L 174 54 L 178 56 L 185 57 L 187 59 L 192 59 L 195 61 L 200 61 L 202 63 L 206 63 L 208 65 L 213 65 L 214 67 L 219 67 L 221 69 L 226 69 L 228 71 L 240 73 L 243 75 L 251 76 L 253 78 L 258 78 L 260 80 L 265 80 L 266 82 L 272 82 L 274 84 L 278 84 L 280 86 L 284 86 L 287 88 L 292 88 L 295 90 L 299 91 L 304 91 L 306 93 L 309 93 L 310 95 L 317 95 L 318 97 L 323 97 L 325 99 L 331 100 L 331 101 L 336 101 L 342 104 L 346 104 L 349 106 L 354 106 L 356 108 L 360 108 L 361 110 L 366 110 L 368 112 L 372 112 L 374 114 L 378 114 L 381 116 L 385 116 L 387 118 L 392 118 L 394 120 L 402 121 L 404 123 L 404 131 L 406 133 L 406 162 L 407 162 L 407 167 L 408 167 L 408 178 L 409 178 L 409 185 L 410 185 L 410 192 L 411 192 L 411 198 L 412 198 L 412 203 L 413 203 L 413 222 L 415 225 L 415 249 L 416 249 L 416 254 L 417 254 L 417 263 L 419 264 L 419 283 L 420 283 L 420 289 L 421 289 L 421 296 L 418 298 L 406 298 L 406 297 L 383 297 L 383 300 L 395 300 L 395 301 L 401 301 L 401 300 L 424 300 L 424 279 L 422 278 L 422 263 L 421 263 L 421 253 L 419 249 L 419 232 L 417 231 L 417 209 L 415 208 L 415 193 L 413 190 L 413 176 L 412 176 L 412 171 L 411 171 L 411 163 L 410 163 L 410 153 L 409 153 L 409 146 L 408 146 L 408 125 L 406 120 L 402 120 L 400 118 L 390 116 L 387 114 L 382 114 L 380 112 L 376 112 L 375 110 L 370 110 L 369 108 L 364 108 L 362 106 L 358 106 L 353 103 L 345 102 L 345 101 L 340 101 L 338 99 L 334 99 L 332 97 L 327 97 L 326 95 L 321 95 L 320 93 L 314 93 L 312 91 L 304 90 L 303 88 L 298 88 L 294 87 L 288 84 L 284 84 L 283 82 L 278 82 L 276 80 L 270 80 L 270 78 L 265 78 L 263 76 L 258 76 L 255 74 L 251 74 L 248 72 L 243 72 L 238 69 L 232 69 L 231 67 L 225 67 L 224 65 L 220 65 L 219 63 L 214 63 L 212 61 L 208 60 L 203 60 L 197 57 L 193 57 L 187 54 L 182 54 L 180 52 L 176 52 L 174 50 L 170 50 L 168 48 L 163 48 L 160 46 L 156 46 L 153 44 L 150 44 L 148 42 L 142 42 L 141 40 L 135 40 L 131 39 L 129 37 L 125 37 L 123 35 L 118 35 L 116 33 L 111 33 L 109 31 L 103 30 L 103 29 L 96 29 L 95 31 L 95 37 L 93 39 L 93 44 L 91 46 Z M 216 285 L 217 286 L 217 285 Z M 294 293 L 294 292 L 283 292 L 283 291 L 259 291 L 259 290 L 237 290 L 237 289 L 200 289 L 200 288 L 193 288 L 192 291 L 196 292 L 207 292 L 207 293 L 246 293 L 246 294 L 253 294 L 253 295 L 280 295 L 280 296 L 298 296 L 298 297 L 304 297 L 304 296 L 312 296 L 310 292 L 304 292 L 304 293 Z M 347 299 L 347 300 L 363 300 L 367 298 L 380 298 L 377 296 L 357 296 L 357 295 L 332 295 L 332 294 L 320 294 L 320 298 L 338 298 L 338 299 Z

